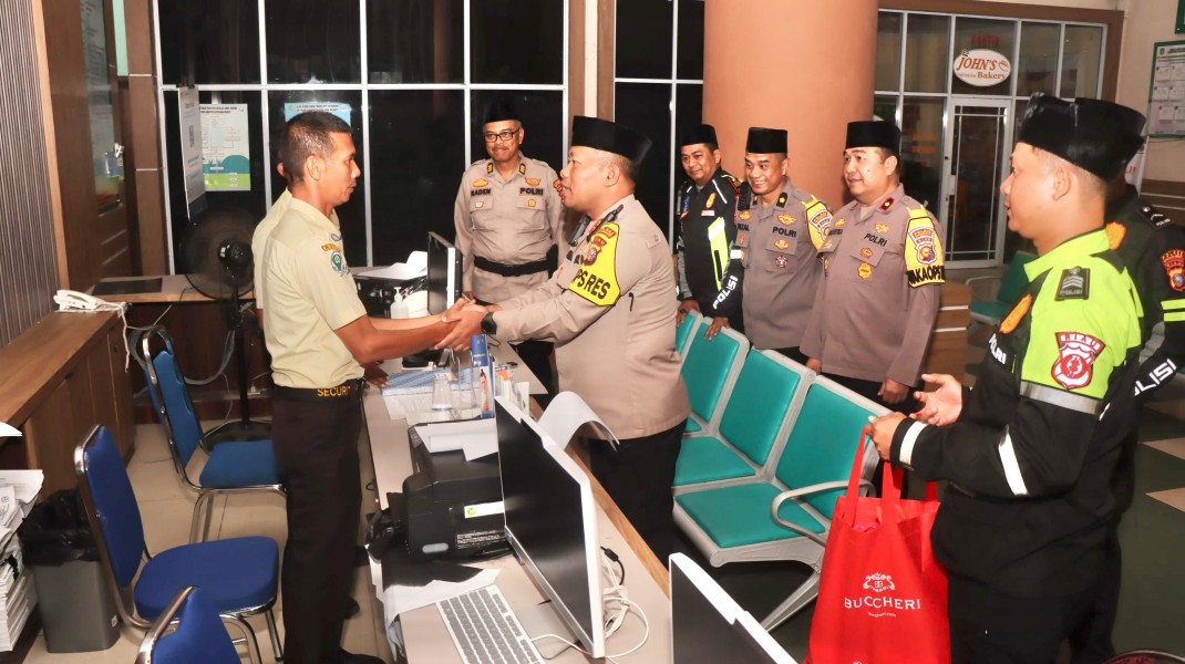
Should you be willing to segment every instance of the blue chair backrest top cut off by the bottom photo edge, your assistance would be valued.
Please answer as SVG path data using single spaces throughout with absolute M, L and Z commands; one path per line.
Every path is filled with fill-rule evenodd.
M 205 591 L 181 588 L 140 642 L 136 664 L 239 664 L 238 652 Z M 169 626 L 175 626 L 168 632 Z

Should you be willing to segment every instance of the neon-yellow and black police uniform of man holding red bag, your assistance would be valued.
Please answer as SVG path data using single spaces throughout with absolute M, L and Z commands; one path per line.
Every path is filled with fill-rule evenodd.
M 1140 344 L 1135 286 L 1102 230 L 1025 273 L 957 421 L 907 419 L 892 439 L 893 463 L 950 481 L 931 539 L 955 662 L 1052 662 L 1085 612 L 1114 509 L 1122 437 L 1096 430 Z

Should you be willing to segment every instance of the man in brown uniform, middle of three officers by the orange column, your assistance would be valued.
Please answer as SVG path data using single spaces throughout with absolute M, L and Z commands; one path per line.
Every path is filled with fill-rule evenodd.
M 818 250 L 831 227 L 831 209 L 790 182 L 787 147 L 784 129 L 749 128 L 748 188 L 737 201 L 730 273 L 712 311 L 726 310 L 743 283 L 741 310 L 752 344 L 806 362 L 799 346 L 822 273 Z

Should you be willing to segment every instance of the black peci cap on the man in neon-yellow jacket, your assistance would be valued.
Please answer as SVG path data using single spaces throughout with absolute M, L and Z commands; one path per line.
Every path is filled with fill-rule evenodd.
M 1052 153 L 1110 182 L 1140 149 L 1142 138 L 1133 131 L 1144 116 L 1110 102 L 1066 102 L 1044 92 L 1029 99 L 1018 141 Z

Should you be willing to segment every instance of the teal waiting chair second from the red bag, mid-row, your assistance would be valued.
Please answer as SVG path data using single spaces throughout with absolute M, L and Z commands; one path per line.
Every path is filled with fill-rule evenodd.
M 773 476 L 814 372 L 774 350 L 750 350 L 716 434 L 683 440 L 675 494 Z

